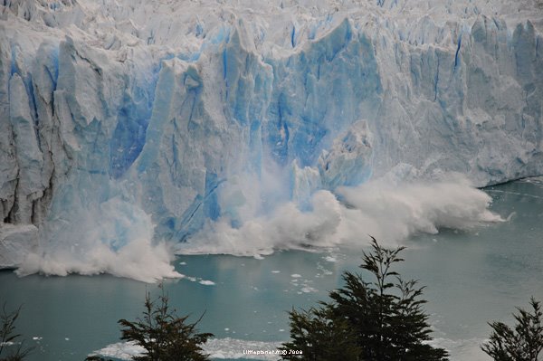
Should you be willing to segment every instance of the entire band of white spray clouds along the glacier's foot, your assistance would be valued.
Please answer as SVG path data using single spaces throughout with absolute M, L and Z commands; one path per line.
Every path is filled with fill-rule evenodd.
M 43 225 L 39 249 L 17 274 L 109 273 L 156 282 L 181 277 L 171 264 L 175 253 L 261 257 L 279 250 L 359 247 L 367 235 L 395 245 L 414 234 L 503 221 L 489 210 L 491 197 L 461 175 L 433 181 L 384 177 L 331 192 L 311 184 L 307 169 L 298 168 L 307 174 L 294 190 L 289 170 L 272 165 L 261 176 L 233 176 L 217 190 L 221 217 L 208 219 L 187 242 L 157 238 L 137 192 L 122 184 L 110 184 L 113 196 L 102 202 L 83 204 L 89 195 L 67 196 L 66 210 Z M 104 190 L 95 185 L 79 192 L 100 199 Z

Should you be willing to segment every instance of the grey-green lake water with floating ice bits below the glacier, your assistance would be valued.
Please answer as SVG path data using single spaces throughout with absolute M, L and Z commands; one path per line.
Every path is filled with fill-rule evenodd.
M 508 222 L 414 237 L 399 268 L 427 286 L 433 337 L 452 360 L 489 359 L 479 348 L 490 333 L 486 322 L 510 322 L 511 312 L 527 306 L 530 296 L 543 299 L 543 179 L 485 191 L 494 212 L 512 214 Z M 342 271 L 358 270 L 361 252 L 276 252 L 263 260 L 182 256 L 176 270 L 187 277 L 167 281 L 165 288 L 180 314 L 195 320 L 205 312 L 199 326 L 215 335 L 210 352 L 242 359 L 243 348 L 271 349 L 287 340 L 287 311 L 327 299 L 342 285 Z M 146 290 L 158 292 L 156 285 L 108 275 L 21 279 L 0 272 L 0 301 L 8 309 L 23 304 L 17 330 L 36 347 L 29 361 L 82 360 L 118 343 L 117 320 L 140 315 Z

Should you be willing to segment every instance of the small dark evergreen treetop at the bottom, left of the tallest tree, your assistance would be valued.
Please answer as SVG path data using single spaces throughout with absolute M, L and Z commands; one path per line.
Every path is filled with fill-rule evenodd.
M 201 345 L 213 334 L 197 333 L 196 325 L 201 318 L 195 323 L 187 323 L 187 318 L 178 317 L 176 311 L 169 308 L 164 290 L 156 300 L 147 294 L 143 318 L 135 322 L 119 320 L 120 338 L 135 341 L 146 349 L 145 355 L 134 357 L 137 361 L 207 360 Z

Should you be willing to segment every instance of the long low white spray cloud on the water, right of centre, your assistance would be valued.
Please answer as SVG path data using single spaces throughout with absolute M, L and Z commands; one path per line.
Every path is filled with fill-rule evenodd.
M 208 222 L 179 254 L 260 256 L 275 250 L 360 245 L 368 234 L 386 244 L 398 244 L 414 234 L 440 228 L 468 230 L 503 222 L 489 210 L 491 196 L 462 176 L 449 180 L 391 182 L 378 179 L 336 194 L 319 190 L 308 209 L 295 202 L 278 205 L 270 214 L 246 219 L 239 227 L 223 217 Z

